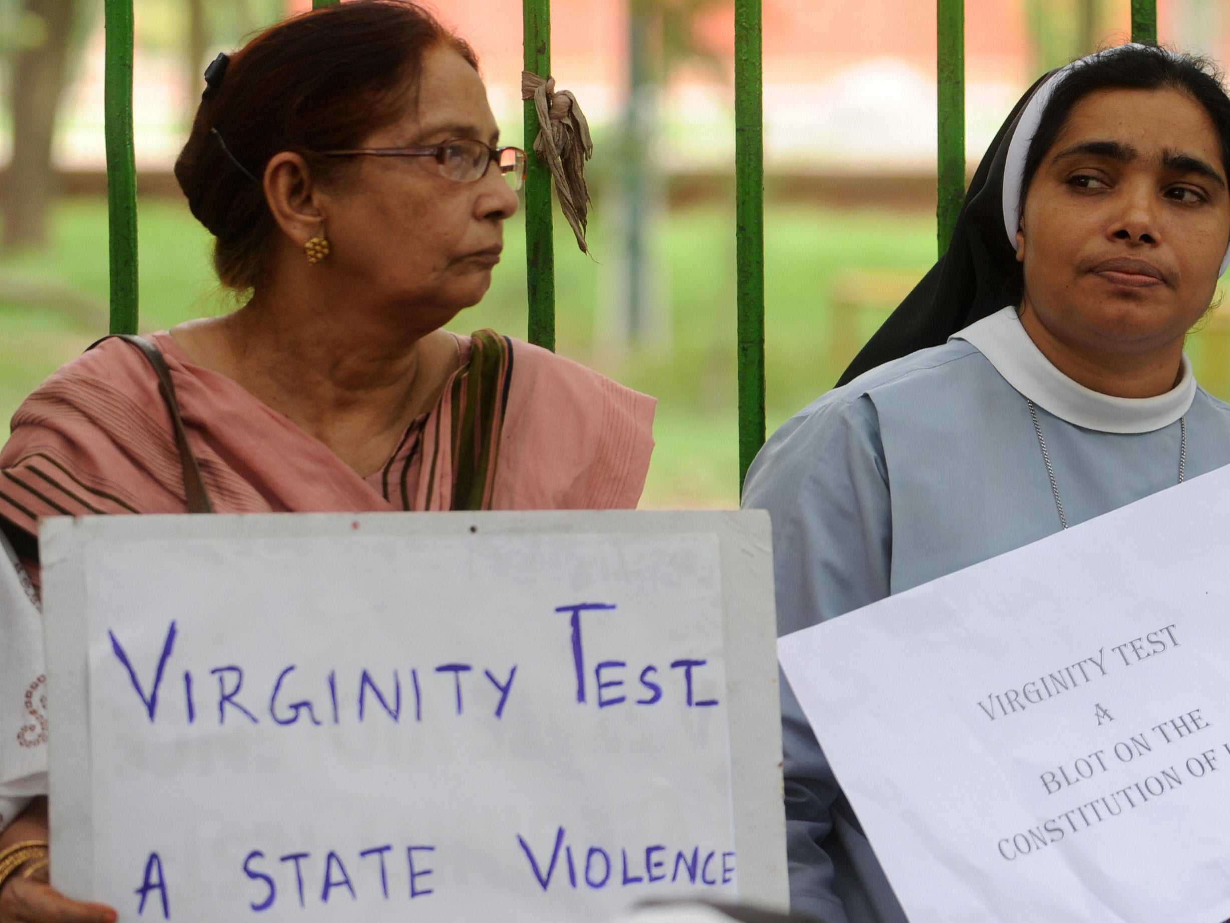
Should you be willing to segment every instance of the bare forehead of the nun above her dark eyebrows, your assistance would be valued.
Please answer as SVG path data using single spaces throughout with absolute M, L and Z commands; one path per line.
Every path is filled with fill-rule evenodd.
M 1221 141 L 1209 113 L 1170 87 L 1090 93 L 1073 106 L 1049 156 L 1090 141 L 1127 145 L 1143 155 L 1181 150 L 1221 162 Z

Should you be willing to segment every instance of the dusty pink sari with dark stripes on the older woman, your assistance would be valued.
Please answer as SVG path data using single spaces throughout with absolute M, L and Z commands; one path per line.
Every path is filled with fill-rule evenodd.
M 389 462 L 363 478 L 167 333 L 188 442 L 218 513 L 636 506 L 653 398 L 538 347 L 482 331 Z M 17 409 L 0 452 L 0 520 L 23 556 L 54 515 L 183 513 L 183 472 L 154 372 L 109 339 Z M 26 546 L 22 549 L 21 546 Z

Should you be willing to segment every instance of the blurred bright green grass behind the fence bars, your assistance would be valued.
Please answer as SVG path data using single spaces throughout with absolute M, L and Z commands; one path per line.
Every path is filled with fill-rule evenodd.
M 557 347 L 578 361 L 658 398 L 657 449 L 646 506 L 733 506 L 738 503 L 734 387 L 734 214 L 706 204 L 664 215 L 653 231 L 659 327 L 663 336 L 637 348 L 611 329 L 617 304 L 616 241 L 599 208 L 590 225 L 594 259 L 577 252 L 567 225 L 556 222 Z M 60 280 L 107 295 L 106 200 L 57 204 L 53 242 L 43 252 L 0 261 L 0 274 Z M 210 268 L 210 238 L 172 199 L 143 199 L 139 215 L 141 329 L 165 329 L 236 306 Z M 525 337 L 524 229 L 506 231 L 504 258 L 483 302 L 451 324 L 493 327 Z M 765 218 L 769 430 L 831 386 L 845 353 L 834 352 L 834 285 L 849 270 L 920 277 L 935 257 L 930 214 L 840 211 L 775 205 Z M 861 342 L 884 310 L 856 312 Z M 0 419 L 102 329 L 84 329 L 47 308 L 0 301 Z M 1196 334 L 1189 352 L 1205 386 L 1230 390 L 1226 334 Z M 850 347 L 854 348 L 852 345 Z M 846 349 L 846 353 L 849 349 Z M 0 426 L 0 440 L 7 426 Z

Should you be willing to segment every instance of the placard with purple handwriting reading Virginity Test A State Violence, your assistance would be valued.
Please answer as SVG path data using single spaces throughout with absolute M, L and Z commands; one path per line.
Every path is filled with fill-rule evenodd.
M 48 522 L 57 884 L 203 923 L 781 905 L 768 543 L 747 514 Z

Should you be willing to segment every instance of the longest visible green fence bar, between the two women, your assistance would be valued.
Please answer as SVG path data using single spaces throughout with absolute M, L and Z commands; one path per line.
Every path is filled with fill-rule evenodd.
M 760 0 L 734 0 L 739 493 L 765 441 L 765 173 Z

